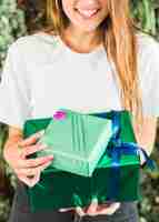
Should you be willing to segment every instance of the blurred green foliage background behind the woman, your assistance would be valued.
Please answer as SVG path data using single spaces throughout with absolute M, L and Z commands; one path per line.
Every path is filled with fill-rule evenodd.
M 43 22 L 42 0 L 0 0 L 0 69 L 8 47 L 19 37 L 30 33 Z M 19 6 L 19 7 L 18 7 Z M 131 0 L 132 17 L 138 27 L 159 39 L 159 0 Z M 0 222 L 6 222 L 16 186 L 11 170 L 2 160 L 2 147 L 7 138 L 7 125 L 0 124 Z M 159 164 L 159 133 L 152 157 Z M 157 149 L 158 148 L 158 149 Z M 142 176 L 143 200 L 139 204 L 140 222 L 159 221 L 159 172 L 147 172 Z

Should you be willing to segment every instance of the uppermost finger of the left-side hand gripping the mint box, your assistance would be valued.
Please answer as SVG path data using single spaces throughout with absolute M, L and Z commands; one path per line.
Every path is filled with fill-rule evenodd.
M 26 140 L 22 140 L 19 142 L 19 145 L 20 147 L 28 147 L 28 145 L 31 145 L 33 144 L 34 142 L 37 142 L 38 139 L 40 139 L 44 133 L 44 130 L 41 130 L 37 133 L 34 133 L 33 135 L 27 138 Z

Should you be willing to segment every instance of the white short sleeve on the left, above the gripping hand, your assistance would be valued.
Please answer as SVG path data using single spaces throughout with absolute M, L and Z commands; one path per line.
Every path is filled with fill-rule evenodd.
M 22 129 L 31 114 L 31 97 L 29 78 L 17 41 L 9 47 L 1 73 L 0 122 Z

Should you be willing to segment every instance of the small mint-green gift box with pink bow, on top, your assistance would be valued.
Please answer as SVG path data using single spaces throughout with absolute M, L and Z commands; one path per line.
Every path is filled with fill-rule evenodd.
M 111 123 L 106 118 L 60 109 L 39 140 L 48 148 L 37 157 L 52 154 L 50 168 L 91 176 L 112 137 Z

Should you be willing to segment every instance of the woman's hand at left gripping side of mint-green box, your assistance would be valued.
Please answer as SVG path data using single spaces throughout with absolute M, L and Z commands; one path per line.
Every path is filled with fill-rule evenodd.
M 42 131 L 41 131 L 42 132 Z M 44 145 L 34 144 L 42 135 L 38 132 L 26 140 L 10 139 L 4 145 L 3 157 L 13 169 L 18 179 L 29 186 L 33 186 L 40 179 L 40 172 L 52 162 L 53 157 L 27 159 L 28 155 L 46 149 Z

